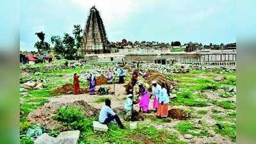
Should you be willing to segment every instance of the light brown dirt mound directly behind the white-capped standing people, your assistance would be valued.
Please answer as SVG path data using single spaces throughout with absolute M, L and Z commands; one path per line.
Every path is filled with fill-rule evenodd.
M 163 82 L 167 83 L 169 88 L 172 90 L 177 82 L 173 81 L 169 78 L 167 78 L 166 76 L 164 76 L 164 74 L 161 74 L 160 72 L 153 72 L 151 73 L 151 75 L 148 77 L 148 79 L 146 79 L 146 82 L 151 85 L 152 81 L 157 81 L 158 84 L 162 84 Z

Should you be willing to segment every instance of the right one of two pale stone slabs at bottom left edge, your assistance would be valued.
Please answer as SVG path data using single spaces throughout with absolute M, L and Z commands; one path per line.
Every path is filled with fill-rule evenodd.
M 56 141 L 57 143 L 63 144 L 76 144 L 78 142 L 78 138 L 80 136 L 80 131 L 65 131 L 60 132 L 57 136 Z

